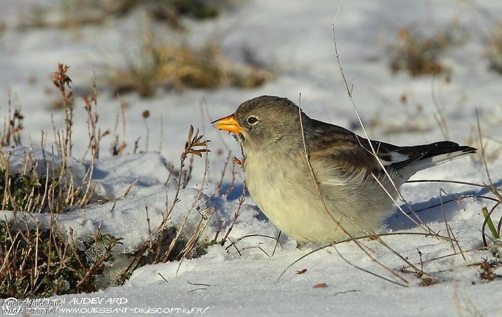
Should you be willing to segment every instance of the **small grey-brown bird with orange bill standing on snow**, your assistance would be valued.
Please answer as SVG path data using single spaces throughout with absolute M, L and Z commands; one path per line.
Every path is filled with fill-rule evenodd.
M 212 124 L 233 132 L 249 194 L 300 246 L 376 232 L 393 212 L 382 186 L 396 194 L 382 165 L 399 187 L 417 171 L 476 152 L 449 141 L 408 147 L 368 141 L 274 96 L 250 99 Z

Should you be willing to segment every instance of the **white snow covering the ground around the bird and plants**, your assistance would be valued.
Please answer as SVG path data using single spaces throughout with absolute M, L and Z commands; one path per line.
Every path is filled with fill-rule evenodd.
M 25 115 L 24 140 L 28 137 L 33 144 L 39 143 L 40 131 L 52 135 L 51 114 L 58 127 L 63 126 L 64 114 L 53 110 L 50 104 L 54 95 L 47 95 L 51 85 L 51 73 L 57 63 L 70 66 L 69 76 L 76 90 L 89 87 L 93 70 L 102 75 L 103 63 L 124 62 L 127 53 L 137 49 L 139 27 L 142 15 L 135 13 L 120 20 L 107 21 L 104 26 L 85 26 L 73 31 L 53 29 L 20 32 L 14 29 L 20 10 L 35 1 L 18 2 L 0 0 L 0 19 L 7 21 L 7 31 L 0 37 L 0 111 L 7 113 L 8 92 L 12 92 L 14 103 L 20 104 Z M 54 5 L 50 1 L 45 4 Z M 56 3 L 56 2 L 54 2 Z M 333 18 L 342 2 L 316 1 L 264 1 L 249 0 L 232 14 L 223 14 L 214 21 L 187 21 L 190 32 L 187 40 L 201 43 L 211 34 L 225 30 L 222 43 L 224 52 L 231 58 L 242 58 L 241 49 L 249 47 L 258 58 L 276 65 L 282 71 L 276 80 L 264 86 L 241 90 L 221 88 L 217 90 L 186 90 L 183 93 L 159 92 L 155 98 L 141 99 L 134 94 L 122 96 L 129 105 L 126 109 L 127 143 L 126 151 L 132 151 L 132 144 L 141 137 L 140 149 L 146 144 L 146 128 L 141 113 L 148 109 L 150 135 L 149 149 L 156 151 L 162 142 L 161 153 L 106 157 L 96 163 L 98 191 L 113 200 L 121 197 L 134 180 L 139 179 L 131 193 L 117 202 L 113 212 L 113 202 L 99 206 L 88 206 L 85 210 L 74 210 L 60 216 L 64 227 L 72 227 L 77 238 L 92 235 L 100 220 L 102 232 L 124 238 L 124 245 L 118 252 L 134 250 L 148 239 L 148 229 L 144 206 L 151 210 L 151 222 L 158 223 L 165 209 L 165 189 L 163 187 L 168 171 L 164 162 L 177 165 L 183 150 L 186 133 L 190 124 L 199 127 L 210 143 L 210 167 L 208 187 L 201 207 L 214 207 L 210 227 L 205 236 L 214 237 L 220 219 L 225 221 L 224 229 L 230 224 L 237 208 L 242 176 L 236 182 L 234 199 L 209 196 L 216 190 L 220 171 L 226 157 L 226 149 L 239 156 L 232 138 L 225 133 L 210 128 L 211 119 L 232 113 L 243 101 L 259 95 L 277 95 L 298 100 L 302 94 L 302 108 L 311 117 L 358 129 L 356 117 L 340 76 L 333 52 Z M 483 2 L 493 16 L 502 14 L 502 3 Z M 410 77 L 406 73 L 391 74 L 388 68 L 388 44 L 397 37 L 400 27 L 419 25 L 425 31 L 441 29 L 457 19 L 467 27 L 470 37 L 463 46 L 452 48 L 441 61 L 453 69 L 450 82 L 432 77 Z M 434 115 L 437 113 L 433 102 L 434 89 L 438 105 L 446 119 L 451 141 L 466 143 L 469 138 L 476 140 L 475 109 L 486 135 L 502 139 L 502 77 L 488 69 L 484 56 L 484 45 L 480 35 L 494 26 L 485 19 L 478 7 L 471 2 L 441 1 L 417 2 L 385 0 L 379 2 L 358 1 L 345 3 L 337 18 L 337 44 L 342 66 L 349 82 L 354 83 L 354 101 L 373 139 L 397 145 L 424 144 L 443 140 Z M 164 34 L 162 34 L 164 36 Z M 172 36 L 165 34 L 166 38 Z M 30 77 L 35 78 L 28 80 Z M 30 83 L 31 82 L 31 83 Z M 104 85 L 104 83 L 101 83 Z M 433 89 L 432 89 L 433 87 Z M 407 102 L 402 103 L 402 95 Z M 207 102 L 208 112 L 202 114 L 200 102 Z M 87 126 L 84 119 L 83 102 L 76 99 L 76 125 L 74 153 L 80 156 L 87 146 Z M 416 112 L 416 105 L 423 111 Z M 102 130 L 113 129 L 119 101 L 103 90 L 98 96 L 98 125 Z M 163 140 L 160 140 L 160 117 L 163 117 Z M 388 127 L 406 130 L 409 124 L 417 124 L 420 132 L 389 133 Z M 357 130 L 361 133 L 361 130 Z M 220 134 L 220 135 L 218 135 Z M 488 150 L 499 146 L 486 139 Z M 474 141 L 473 146 L 476 146 Z M 26 144 L 27 142 L 25 142 Z M 103 148 L 111 144 L 111 139 L 103 139 Z M 49 143 L 48 143 L 49 144 Z M 219 155 L 218 150 L 223 154 Z M 195 159 L 192 188 L 182 191 L 181 202 L 176 205 L 171 219 L 173 224 L 181 222 L 188 206 L 193 202 L 200 188 L 203 159 Z M 85 166 L 84 166 L 85 167 Z M 488 167 L 493 182 L 502 186 L 502 161 L 490 161 Z M 230 182 L 227 171 L 225 184 Z M 455 179 L 463 182 L 487 182 L 484 165 L 479 157 L 458 160 L 441 165 L 414 176 L 414 179 Z M 174 191 L 169 184 L 169 194 Z M 489 195 L 483 188 L 444 183 L 406 184 L 402 193 L 415 210 L 440 202 L 440 190 L 453 197 L 465 195 Z M 172 197 L 172 195 L 169 195 Z M 445 196 L 443 196 L 445 199 Z M 445 205 L 449 226 L 463 250 L 482 245 L 482 206 L 492 202 L 478 199 L 463 199 Z M 9 216 L 9 212 L 3 212 Z M 198 214 L 191 215 L 191 223 L 197 221 Z M 446 235 L 443 213 L 440 207 L 420 212 L 424 222 L 436 232 Z M 3 215 L 2 215 L 3 217 Z M 500 218 L 495 211 L 493 219 Z M 43 221 L 43 216 L 40 216 Z M 190 222 L 190 221 L 189 221 Z M 394 216 L 382 226 L 382 233 L 422 232 L 396 209 Z M 241 215 L 230 234 L 230 239 L 260 234 L 275 236 L 272 223 L 260 214 L 250 197 L 246 197 Z M 487 234 L 488 231 L 487 231 Z M 479 278 L 479 266 L 468 264 L 491 258 L 488 251 L 469 252 L 464 261 L 460 255 L 446 257 L 430 263 L 425 261 L 452 253 L 450 244 L 424 236 L 388 236 L 382 239 L 395 251 L 412 263 L 420 263 L 419 253 L 424 261 L 424 271 L 439 272 L 434 275 L 437 284 L 420 286 L 421 280 L 412 274 L 399 273 L 404 262 L 384 248 L 377 241 L 364 243 L 374 252 L 372 255 L 385 265 L 398 271 L 408 280 L 408 287 L 391 284 L 364 273 L 347 264 L 334 248 L 313 253 L 295 264 L 277 281 L 282 271 L 293 261 L 316 248 L 310 246 L 296 249 L 296 242 L 283 237 L 282 246 L 277 246 L 272 257 L 275 240 L 252 237 L 239 241 L 228 251 L 221 246 L 209 247 L 208 253 L 200 258 L 185 260 L 177 275 L 178 262 L 144 266 L 134 271 L 131 278 L 120 287 L 110 287 L 93 294 L 60 296 L 65 307 L 129 307 L 126 313 L 115 312 L 106 315 L 157 315 L 155 311 L 140 308 L 202 308 L 204 315 L 484 315 L 499 316 L 502 304 L 499 301 L 502 280 L 484 282 Z M 228 244 L 227 244 L 228 245 Z M 256 248 L 261 247 L 262 250 Z M 341 244 L 338 252 L 358 267 L 370 270 L 389 279 L 396 280 L 388 271 L 371 261 L 352 243 Z M 418 264 L 420 265 L 420 264 Z M 306 268 L 303 274 L 297 271 Z M 159 273 L 167 280 L 164 281 Z M 495 270 L 502 274 L 502 269 Z M 399 280 L 398 280 L 399 281 Z M 402 281 L 400 281 L 402 282 Z M 195 286 L 202 283 L 208 286 Z M 315 285 L 325 283 L 326 287 Z M 201 289 L 203 288 L 203 289 Z M 197 289 L 197 290 L 195 290 Z M 72 299 L 81 298 L 125 298 L 127 303 L 70 304 Z M 136 310 L 135 310 L 136 309 Z M 163 310 L 164 313 L 166 310 Z M 181 310 L 171 313 L 187 314 Z M 60 315 L 95 315 L 96 312 L 60 312 Z M 194 310 L 193 314 L 197 314 Z M 200 312 L 199 312 L 200 314 Z

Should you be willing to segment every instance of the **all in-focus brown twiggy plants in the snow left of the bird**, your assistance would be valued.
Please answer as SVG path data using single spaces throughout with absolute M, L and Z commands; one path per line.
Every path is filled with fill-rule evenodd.
M 140 248 L 135 252 L 131 265 L 127 268 L 117 267 L 119 264 L 115 263 L 115 269 L 124 270 L 122 275 L 117 277 L 107 273 L 115 260 L 114 248 L 122 244 L 122 238 L 102 233 L 103 221 L 98 225 L 93 237 L 80 238 L 79 241 L 74 239 L 73 229 L 62 228 L 58 214 L 72 206 L 84 207 L 91 203 L 102 203 L 103 198 L 94 193 L 95 184 L 92 182 L 94 162 L 99 156 L 101 139 L 112 134 L 109 130 L 101 132 L 97 126 L 98 107 L 96 79 L 94 78 L 93 92 L 89 97 L 83 98 L 87 112 L 84 119 L 88 126 L 89 140 L 82 162 L 87 161 L 90 166 L 84 178 L 77 179 L 70 163 L 73 161 L 71 139 L 74 123 L 74 97 L 69 86 L 71 79 L 67 73 L 68 67 L 60 64 L 53 79 L 66 114 L 65 128 L 54 130 L 56 142 L 50 153 L 54 159 L 50 158 L 49 153 L 43 152 L 44 160 L 42 162 L 40 159 L 35 160 L 34 153 L 29 148 L 29 151 L 25 153 L 21 172 L 12 172 L 9 164 L 12 149 L 8 147 L 21 145 L 23 116 L 17 109 L 9 110 L 3 128 L 0 126 L 3 150 L 0 152 L 2 210 L 12 212 L 11 217 L 0 219 L 0 297 L 24 299 L 27 296 L 49 297 L 93 292 L 100 287 L 124 282 L 132 271 L 141 265 L 196 257 L 203 254 L 210 245 L 202 241 L 202 236 L 214 209 L 199 210 L 196 207 L 197 202 L 203 197 L 203 186 L 200 187 L 197 198 L 188 209 L 184 221 L 177 228 L 168 225 L 169 215 L 179 201 L 177 195 L 189 181 L 187 176 L 189 171 L 185 169 L 186 159 L 192 160 L 193 156 L 202 156 L 202 153 L 209 152 L 208 141 L 203 140 L 199 131 L 195 131 L 192 127 L 180 159 L 180 169 L 176 178 L 178 182 L 176 195 L 172 198 L 172 203 L 168 204 L 166 194 L 166 214 L 159 224 L 150 223 L 148 207 L 145 207 L 149 241 L 145 242 L 145 249 Z M 11 109 L 10 104 L 9 109 Z M 116 143 L 112 145 L 113 155 L 122 155 L 127 147 L 124 142 L 123 105 L 121 110 L 122 141 L 119 142 L 117 135 L 117 123 L 113 132 L 116 140 Z M 45 148 L 44 142 L 46 142 L 45 136 L 42 134 L 42 149 Z M 205 166 L 205 171 L 207 171 L 207 153 Z M 204 179 L 202 184 L 204 184 Z M 137 180 L 117 200 L 128 199 L 127 194 L 136 183 Z M 114 208 L 115 203 L 112 210 Z M 191 228 L 187 223 L 188 216 L 194 210 L 199 212 L 200 220 L 193 232 L 187 232 L 185 227 Z M 49 214 L 46 218 L 49 224 L 41 224 L 38 220 L 40 213 Z M 106 279 L 111 280 L 106 281 Z

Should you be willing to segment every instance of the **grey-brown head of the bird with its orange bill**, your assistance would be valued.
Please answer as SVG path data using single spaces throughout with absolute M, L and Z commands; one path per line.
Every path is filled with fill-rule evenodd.
M 308 117 L 302 113 L 303 124 Z M 260 96 L 242 103 L 234 114 L 213 122 L 214 127 L 234 132 L 245 148 L 270 148 L 279 140 L 293 146 L 301 142 L 298 106 L 287 98 Z M 291 140 L 290 140 L 291 139 Z

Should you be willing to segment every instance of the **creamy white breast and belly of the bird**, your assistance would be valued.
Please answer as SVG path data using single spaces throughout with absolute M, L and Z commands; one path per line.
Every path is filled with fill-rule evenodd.
M 249 194 L 285 234 L 299 243 L 330 243 L 346 238 L 319 199 L 310 173 L 300 159 L 271 160 L 254 153 L 246 157 L 244 172 Z M 322 178 L 320 173 L 319 176 Z M 376 230 L 392 212 L 388 203 L 347 192 L 349 187 L 361 183 L 360 178 L 318 180 L 328 196 L 325 202 L 329 211 L 353 235 L 360 233 L 361 227 Z

